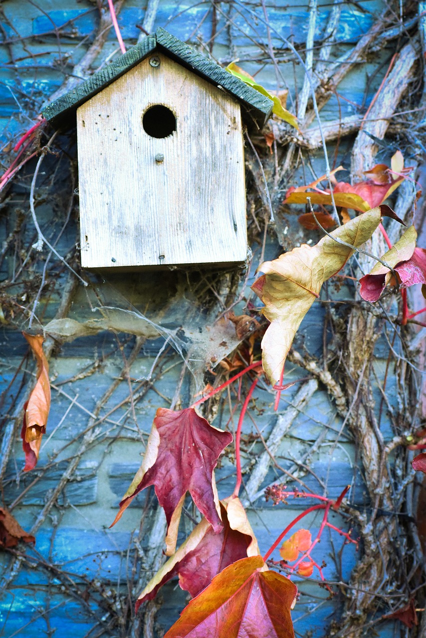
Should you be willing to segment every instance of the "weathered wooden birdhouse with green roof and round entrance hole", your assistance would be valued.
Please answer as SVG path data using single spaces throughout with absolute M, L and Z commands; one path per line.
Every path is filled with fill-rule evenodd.
M 164 29 L 50 103 L 77 119 L 82 266 L 244 262 L 243 121 L 272 105 Z

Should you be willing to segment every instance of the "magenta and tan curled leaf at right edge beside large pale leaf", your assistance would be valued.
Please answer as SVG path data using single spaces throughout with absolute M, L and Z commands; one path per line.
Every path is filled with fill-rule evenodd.
M 416 248 L 416 239 L 415 227 L 409 226 L 393 248 L 382 257 L 397 273 L 398 283 L 405 287 L 416 283 L 426 284 L 426 250 Z M 392 282 L 397 283 L 393 273 L 377 262 L 368 275 L 361 277 L 360 295 L 366 301 L 377 301 L 384 288 Z

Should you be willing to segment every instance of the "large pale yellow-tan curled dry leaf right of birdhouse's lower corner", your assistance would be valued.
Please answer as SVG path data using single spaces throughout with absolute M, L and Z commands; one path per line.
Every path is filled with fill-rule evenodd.
M 339 240 L 358 248 L 370 239 L 380 221 L 377 207 L 333 230 L 331 237 L 323 237 L 316 246 L 302 244 L 259 266 L 265 274 L 252 290 L 264 303 L 262 312 L 271 322 L 262 339 L 262 363 L 273 385 L 280 380 L 294 335 L 324 281 L 339 272 L 354 252 Z

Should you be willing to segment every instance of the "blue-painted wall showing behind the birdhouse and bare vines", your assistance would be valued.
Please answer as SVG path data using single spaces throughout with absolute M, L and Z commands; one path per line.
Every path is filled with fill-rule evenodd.
M 316 38 L 321 38 L 330 16 L 330 3 L 324 0 L 319 5 Z M 339 45 L 336 54 L 347 50 L 361 33 L 369 29 L 374 15 L 382 6 L 383 3 L 379 0 L 363 1 L 356 3 L 356 6 L 345 3 L 337 34 Z M 240 58 L 248 71 L 259 72 L 257 77 L 263 84 L 276 89 L 277 81 L 273 66 L 267 63 L 268 38 L 261 4 L 255 1 L 235 1 L 218 3 L 217 7 L 218 35 L 215 38 L 213 56 L 223 64 Z M 365 12 L 360 7 L 364 8 Z M 291 91 L 294 91 L 293 69 L 290 71 L 291 65 L 284 64 L 287 50 L 283 38 L 291 36 L 296 43 L 305 41 L 307 3 L 294 0 L 289 6 L 287 1 L 271 0 L 267 3 L 267 8 L 272 27 L 272 44 L 282 49 L 279 61 L 284 69 L 285 82 Z M 60 8 L 54 0 L 39 0 L 37 5 L 26 0 L 6 0 L 2 4 L 2 10 L 13 24 L 13 29 L 4 24 L 4 34 L 10 41 L 15 57 L 15 64 L 10 64 L 10 49 L 6 45 L 0 47 L 0 126 L 6 142 L 16 137 L 17 131 L 27 125 L 27 118 L 23 112 L 37 114 L 42 103 L 61 85 L 72 65 L 82 56 L 87 42 L 91 41 L 97 17 L 93 3 L 87 0 L 63 0 Z M 137 25 L 142 23 L 144 13 L 144 3 L 130 0 L 119 15 L 123 37 L 129 44 L 134 43 L 139 34 Z M 155 27 L 163 26 L 182 40 L 190 41 L 194 45 L 204 45 L 211 38 L 212 15 L 211 4 L 207 2 L 195 3 L 188 0 L 171 3 L 160 0 Z M 60 50 L 56 35 L 52 32 L 52 24 L 60 29 Z M 19 41 L 17 34 L 27 37 L 25 45 Z M 87 40 L 84 40 L 85 38 Z M 111 31 L 102 58 L 96 60 L 94 69 L 105 63 L 105 58 L 114 55 L 116 50 L 117 43 Z M 52 61 L 58 59 L 59 63 L 52 65 Z M 361 104 L 365 77 L 373 68 L 373 63 L 367 63 L 342 83 L 340 93 L 349 100 L 340 101 L 342 114 L 352 114 L 356 111 L 354 103 Z M 370 83 L 367 102 L 379 86 L 383 73 L 377 73 Z M 301 72 L 296 71 L 296 82 L 299 86 L 301 77 Z M 324 119 L 336 117 L 337 107 L 337 100 L 330 100 L 328 107 L 324 108 Z M 63 140 L 61 144 L 67 150 L 72 146 L 69 140 Z M 314 158 L 315 162 L 318 174 L 324 172 L 320 156 Z M 45 167 L 46 174 L 49 175 L 49 170 L 54 170 L 54 161 L 50 159 Z M 63 175 L 65 199 L 69 191 L 70 175 L 65 165 L 60 170 Z M 26 201 L 30 182 L 31 169 L 24 185 L 13 191 L 13 197 L 17 200 L 16 206 Z M 43 184 L 45 192 L 48 193 L 46 183 Z M 57 222 L 59 212 L 47 203 L 38 207 L 38 214 L 43 228 L 53 230 L 52 223 Z M 2 219 L 2 222 L 3 241 L 3 237 L 11 230 L 12 220 Z M 70 230 L 63 235 L 57 247 L 62 254 L 66 254 L 75 243 L 76 229 L 76 223 L 73 222 Z M 33 235 L 33 229 L 28 227 L 27 245 L 34 241 Z M 316 235 L 312 234 L 312 237 Z M 278 244 L 271 239 L 266 248 L 266 258 L 275 257 L 279 250 Z M 6 265 L 3 265 L 3 276 L 11 277 L 13 271 L 14 263 L 11 257 Z M 65 281 L 64 274 L 61 274 L 61 278 Z M 79 447 L 82 433 L 89 424 L 90 413 L 95 409 L 100 397 L 108 391 L 112 380 L 120 374 L 123 367 L 121 352 L 127 357 L 130 355 L 136 336 L 142 336 L 146 341 L 138 359 L 132 364 L 130 378 L 135 393 L 143 392 L 144 396 L 142 401 L 135 403 L 136 424 L 130 414 L 128 403 L 123 403 L 129 392 L 127 382 L 118 384 L 97 415 L 99 425 L 96 427 L 93 440 L 89 442 L 87 452 L 82 456 L 74 480 L 58 500 L 52 516 L 45 520 L 38 531 L 35 549 L 28 549 L 27 563 L 12 580 L 8 593 L 0 602 L 0 635 L 5 637 L 17 634 L 31 637 L 73 635 L 75 638 L 83 638 L 92 635 L 90 632 L 94 627 L 98 633 L 93 635 L 116 635 L 114 632 L 110 633 L 107 628 L 109 611 L 105 600 L 111 601 L 114 598 L 113 591 L 118 586 L 118 581 L 118 588 L 125 590 L 126 578 L 130 573 L 128 548 L 130 547 L 130 556 L 133 557 L 137 553 L 135 539 L 141 508 L 148 509 L 148 521 L 155 514 L 155 500 L 152 495 L 148 498 L 144 494 L 139 496 L 132 503 L 132 507 L 128 508 L 118 526 L 113 530 L 107 528 L 115 516 L 119 499 L 141 461 L 139 431 L 146 440 L 156 408 L 169 406 L 179 380 L 182 356 L 186 355 L 186 348 L 193 340 L 194 334 L 200 329 L 206 343 L 208 342 L 209 315 L 196 297 L 191 297 L 194 278 L 189 281 L 185 274 L 171 272 L 167 278 L 164 275 L 150 274 L 149 277 L 114 276 L 106 283 L 95 277 L 91 279 L 95 294 L 79 290 L 69 313 L 74 322 L 84 324 L 82 336 L 72 343 L 64 343 L 50 362 L 52 408 L 49 432 L 45 436 L 40 463 L 29 475 L 23 475 L 24 459 L 17 440 L 13 458 L 6 470 L 4 500 L 10 505 L 18 499 L 13 514 L 24 528 L 29 528 L 34 523 L 40 507 L 49 498 L 49 492 L 68 467 Z M 253 279 L 254 272 L 251 273 L 248 283 L 252 283 Z M 350 288 L 340 291 L 342 298 L 350 297 L 351 294 Z M 22 302 L 24 303 L 24 299 Z M 43 325 L 54 318 L 59 302 L 60 298 L 55 295 L 43 295 L 38 308 L 38 316 Z M 102 304 L 116 309 L 113 317 L 105 310 L 102 313 L 93 311 L 96 307 L 102 310 Z M 139 313 L 139 318 L 128 315 L 129 310 Z M 321 306 L 314 305 L 298 334 L 296 343 L 300 348 L 305 347 L 310 353 L 321 352 L 323 315 Z M 153 329 L 152 324 L 145 322 L 143 316 L 148 316 L 151 322 L 158 325 L 163 330 L 163 336 L 158 336 L 158 331 Z M 108 327 L 110 330 L 106 329 Z M 102 330 L 96 333 L 99 328 Z M 118 336 L 113 334 L 112 328 L 118 331 Z M 72 329 L 75 330 L 75 325 Z M 156 355 L 164 346 L 166 330 L 167 334 L 174 335 L 180 352 L 171 348 L 165 353 L 162 357 L 162 369 L 165 373 L 159 379 L 154 378 L 151 383 L 147 381 L 147 377 Z M 208 348 L 206 343 L 199 345 L 197 351 L 203 356 Z M 3 387 L 10 383 L 10 396 L 17 394 L 19 401 L 23 401 L 31 384 L 31 374 L 24 380 L 24 389 L 21 388 L 22 377 L 18 375 L 15 380 L 13 378 L 22 356 L 27 352 L 26 343 L 18 330 L 10 329 L 6 325 L 1 327 L 0 345 L 6 355 L 1 368 L 0 382 Z M 377 369 L 380 375 L 385 366 L 386 343 L 378 343 L 377 355 Z M 190 365 L 197 371 L 197 362 Z M 181 391 L 184 404 L 191 402 L 193 391 L 188 376 L 190 375 L 186 376 Z M 303 373 L 297 367 L 289 367 L 288 380 L 295 380 L 300 376 L 303 376 Z M 280 413 L 284 412 L 287 405 L 291 405 L 297 391 L 296 385 L 282 397 L 278 413 L 272 411 L 273 393 L 267 389 L 256 391 L 256 410 L 252 416 L 263 436 L 268 436 Z M 391 401 L 396 401 L 392 393 L 390 396 Z M 5 409 L 8 410 L 7 404 Z M 225 407 L 218 413 L 213 425 L 225 427 L 230 420 L 233 427 L 229 408 Z M 49 433 L 58 424 L 59 427 L 49 438 Z M 308 489 L 324 492 L 331 498 L 338 496 L 344 486 L 351 484 L 353 505 L 360 508 L 369 507 L 365 486 L 356 466 L 351 433 L 344 430 L 335 445 L 335 438 L 341 426 L 342 420 L 326 392 L 322 389 L 317 390 L 314 401 L 294 420 L 280 446 L 277 460 L 286 470 L 292 468 L 294 459 L 312 447 L 325 427 L 321 447 L 312 459 L 309 459 L 307 467 L 298 468 L 300 480 Z M 254 432 L 252 423 L 247 418 L 247 439 L 243 445 L 243 459 L 247 465 L 250 462 L 249 451 L 254 451 L 255 454 L 262 452 L 259 438 L 253 439 L 248 436 L 252 431 Z M 392 431 L 386 419 L 382 422 L 382 431 L 385 440 L 392 438 Z M 39 475 L 40 480 L 31 487 L 31 482 Z M 222 458 L 218 468 L 220 496 L 231 493 L 234 477 L 234 464 L 230 452 Z M 270 469 L 261 487 L 277 479 L 280 479 L 280 471 Z M 20 494 L 26 487 L 28 489 L 20 499 Z M 308 502 L 304 501 L 303 505 Z M 262 498 L 257 499 L 255 509 L 250 511 L 250 519 L 262 551 L 266 551 L 271 540 L 277 537 L 285 524 L 300 510 L 301 505 L 297 502 L 289 502 L 286 507 L 278 505 L 273 508 L 271 503 L 265 503 Z M 334 516 L 339 524 L 342 523 L 338 515 Z M 190 530 L 190 525 L 188 519 L 183 521 L 179 533 L 180 540 L 183 540 L 185 533 Z M 312 519 L 312 527 L 316 528 L 318 525 L 319 519 Z M 320 562 L 326 556 L 328 565 L 324 573 L 328 579 L 348 579 L 356 564 L 357 554 L 354 545 L 344 547 L 343 558 L 340 561 L 341 545 L 342 539 L 331 534 L 324 537 L 321 549 L 318 548 L 314 554 L 314 558 Z M 148 536 L 141 539 L 141 546 L 149 551 Z M 47 569 L 35 568 L 36 560 L 40 556 L 60 567 L 61 573 L 52 574 Z M 7 556 L 1 558 L 3 576 L 7 575 L 8 561 Z M 69 582 L 64 581 L 63 570 L 79 584 L 79 591 L 84 593 L 83 602 L 81 596 L 70 589 Z M 328 626 L 333 614 L 338 611 L 339 602 L 328 600 L 324 591 L 315 583 L 305 581 L 298 584 L 301 600 L 294 612 L 296 634 L 320 638 L 324 635 L 324 627 Z M 164 604 L 158 612 L 160 626 L 167 628 L 172 624 L 185 605 L 185 596 L 184 592 L 176 588 L 176 582 L 165 586 L 162 591 Z M 50 633 L 47 634 L 47 630 Z M 393 635 L 392 623 L 381 626 L 381 636 L 391 634 Z M 161 632 L 158 635 L 162 635 Z

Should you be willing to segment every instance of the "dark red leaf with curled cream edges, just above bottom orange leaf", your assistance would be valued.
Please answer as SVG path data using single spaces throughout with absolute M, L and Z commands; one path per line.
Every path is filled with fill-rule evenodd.
M 202 519 L 176 554 L 148 582 L 136 602 L 152 600 L 157 591 L 173 576 L 179 575 L 179 586 L 192 597 L 206 588 L 215 575 L 240 558 L 257 556 L 259 547 L 247 514 L 238 498 L 220 501 L 224 529 L 215 534 L 211 524 Z

